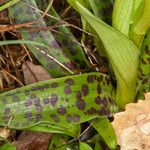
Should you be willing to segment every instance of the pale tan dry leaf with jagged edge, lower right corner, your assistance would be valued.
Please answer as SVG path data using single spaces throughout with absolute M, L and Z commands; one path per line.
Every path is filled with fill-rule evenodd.
M 150 92 L 145 100 L 126 105 L 115 114 L 112 125 L 121 150 L 150 150 Z

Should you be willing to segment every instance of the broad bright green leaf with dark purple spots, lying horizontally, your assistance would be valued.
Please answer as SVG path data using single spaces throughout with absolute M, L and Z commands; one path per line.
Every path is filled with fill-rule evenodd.
M 0 125 L 20 130 L 50 123 L 64 130 L 112 116 L 116 112 L 113 95 L 110 77 L 100 73 L 38 82 L 0 95 Z

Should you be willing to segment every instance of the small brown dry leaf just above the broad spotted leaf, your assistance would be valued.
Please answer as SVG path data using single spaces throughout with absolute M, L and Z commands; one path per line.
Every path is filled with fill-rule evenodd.
M 25 83 L 32 84 L 39 81 L 49 80 L 52 77 L 40 65 L 34 65 L 30 61 L 26 61 L 22 66 Z

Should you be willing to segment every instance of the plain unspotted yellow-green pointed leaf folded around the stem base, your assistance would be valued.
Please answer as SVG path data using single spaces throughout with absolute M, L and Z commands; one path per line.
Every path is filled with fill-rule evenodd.
M 121 107 L 133 102 L 136 95 L 136 82 L 139 63 L 139 50 L 134 43 L 114 28 L 93 16 L 76 2 L 80 14 L 101 38 L 117 80 L 116 103 Z

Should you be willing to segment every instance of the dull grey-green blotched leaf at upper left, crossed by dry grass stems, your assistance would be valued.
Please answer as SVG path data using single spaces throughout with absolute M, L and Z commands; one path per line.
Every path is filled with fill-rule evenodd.
M 24 2 L 32 7 L 35 7 L 36 10 L 38 9 L 37 4 L 34 0 L 25 0 Z M 42 15 L 40 12 L 35 11 L 35 9 L 24 5 L 23 3 L 17 3 L 16 5 L 13 5 L 13 7 L 9 8 L 9 15 L 11 19 L 15 19 L 15 23 L 19 24 L 38 21 L 38 19 L 41 18 Z M 75 74 L 79 72 L 82 67 L 88 68 L 87 61 L 84 61 L 85 57 L 83 57 L 83 61 L 81 61 L 81 58 L 80 61 L 72 61 L 69 57 L 67 57 L 67 53 L 64 52 L 63 48 L 60 47 L 50 30 L 39 30 L 39 28 L 45 27 L 47 28 L 47 25 L 45 21 L 41 19 L 40 21 L 35 22 L 32 25 L 32 28 L 35 28 L 34 31 L 32 31 L 32 28 L 21 28 L 19 31 L 21 32 L 23 40 L 30 40 L 47 45 L 48 48 L 37 45 L 27 45 L 27 47 L 53 77 Z M 65 35 L 65 39 L 70 39 L 70 34 Z M 75 43 L 76 42 L 72 42 L 72 44 L 74 45 Z M 76 51 L 77 49 L 72 50 Z M 81 54 L 81 56 L 84 55 L 83 52 L 81 53 L 81 48 L 77 51 L 80 51 L 79 53 Z M 76 65 L 77 67 L 75 67 Z

